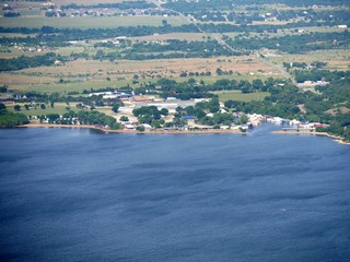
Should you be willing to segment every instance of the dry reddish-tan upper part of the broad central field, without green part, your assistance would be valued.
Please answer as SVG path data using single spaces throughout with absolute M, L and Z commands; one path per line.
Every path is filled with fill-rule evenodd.
M 61 67 L 42 67 L 24 69 L 18 72 L 42 74 L 42 75 L 79 75 L 90 74 L 92 76 L 130 76 L 133 74 L 161 74 L 163 76 L 178 76 L 180 72 L 206 72 L 220 68 L 223 71 L 233 70 L 236 73 L 252 73 L 262 71 L 273 75 L 272 68 L 264 64 L 255 57 L 218 57 L 218 58 L 178 58 L 178 59 L 154 59 L 154 60 L 118 60 L 117 62 L 97 60 L 77 60 L 67 62 Z

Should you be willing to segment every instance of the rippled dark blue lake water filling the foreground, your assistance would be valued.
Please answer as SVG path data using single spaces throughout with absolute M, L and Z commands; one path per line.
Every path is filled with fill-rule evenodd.
M 350 146 L 0 130 L 0 261 L 350 261 Z

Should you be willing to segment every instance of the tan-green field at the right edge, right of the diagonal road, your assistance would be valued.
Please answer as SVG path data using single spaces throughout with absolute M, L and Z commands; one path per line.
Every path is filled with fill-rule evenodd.
M 327 69 L 330 70 L 349 70 L 350 50 L 319 50 L 302 55 L 282 55 L 281 57 L 270 57 L 269 60 L 282 66 L 283 62 L 305 62 L 313 61 L 327 62 Z

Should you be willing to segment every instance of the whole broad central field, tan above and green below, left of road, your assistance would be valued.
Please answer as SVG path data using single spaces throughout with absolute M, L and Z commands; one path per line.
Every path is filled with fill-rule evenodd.
M 232 70 L 233 75 L 215 75 L 215 70 Z M 261 71 L 262 70 L 262 71 Z M 10 90 L 38 92 L 82 92 L 103 87 L 120 87 L 131 84 L 132 76 L 139 75 L 138 81 L 155 82 L 159 78 L 172 78 L 178 82 L 188 78 L 179 78 L 180 72 L 207 72 L 211 76 L 194 76 L 197 81 L 212 83 L 218 79 L 254 80 L 281 78 L 273 69 L 265 66 L 254 57 L 220 57 L 220 58 L 187 58 L 160 59 L 118 62 L 77 60 L 60 67 L 40 67 L 24 69 L 12 73 L 0 73 L 0 84 L 9 85 Z M 109 78 L 110 81 L 106 79 Z M 62 79 L 66 83 L 58 83 Z

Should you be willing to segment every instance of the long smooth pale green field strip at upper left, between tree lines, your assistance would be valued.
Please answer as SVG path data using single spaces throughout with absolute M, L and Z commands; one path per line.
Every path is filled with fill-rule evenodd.
M 42 27 L 43 25 L 58 28 L 113 28 L 118 26 L 151 25 L 161 26 L 162 20 L 176 26 L 185 24 L 186 21 L 179 16 L 101 16 L 101 17 L 46 17 L 26 16 L 7 19 L 0 17 L 3 27 Z

